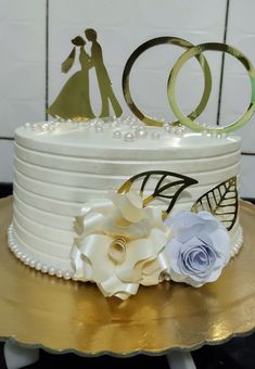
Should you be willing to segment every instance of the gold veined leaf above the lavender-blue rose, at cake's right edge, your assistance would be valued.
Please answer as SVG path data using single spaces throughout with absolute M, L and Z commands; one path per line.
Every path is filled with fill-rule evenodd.
M 235 222 L 238 208 L 237 177 L 232 177 L 204 193 L 192 205 L 191 212 L 209 212 L 230 231 Z

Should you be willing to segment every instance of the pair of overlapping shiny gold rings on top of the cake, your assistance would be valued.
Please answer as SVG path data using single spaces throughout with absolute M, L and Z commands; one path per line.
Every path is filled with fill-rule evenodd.
M 167 96 L 169 100 L 169 104 L 171 106 L 171 110 L 176 117 L 179 120 L 171 122 L 171 125 L 182 124 L 189 128 L 191 128 L 194 131 L 203 131 L 207 130 L 209 132 L 230 132 L 233 130 L 239 129 L 241 126 L 243 126 L 253 115 L 254 109 L 255 109 L 255 69 L 252 65 L 251 61 L 238 49 L 232 48 L 225 43 L 202 43 L 199 46 L 193 46 L 187 40 L 177 38 L 177 37 L 158 37 L 151 39 L 144 43 L 142 43 L 139 48 L 137 48 L 130 58 L 128 59 L 126 66 L 124 68 L 123 73 L 123 91 L 125 100 L 130 107 L 131 112 L 141 120 L 143 120 L 146 125 L 153 125 L 153 126 L 163 126 L 162 120 L 153 119 L 149 116 L 146 116 L 144 113 L 142 113 L 139 107 L 136 105 L 131 98 L 130 89 L 129 89 L 129 75 L 131 72 L 131 68 L 137 61 L 137 59 L 148 49 L 158 46 L 158 44 L 175 44 L 182 48 L 188 49 L 175 63 L 167 81 Z M 227 52 L 230 55 L 237 58 L 245 67 L 247 71 L 251 85 L 252 85 L 252 97 L 251 102 L 247 107 L 247 111 L 235 122 L 230 123 L 227 126 L 206 126 L 202 125 L 199 122 L 195 122 L 195 118 L 204 111 L 212 90 L 212 74 L 209 66 L 207 64 L 206 59 L 203 56 L 203 52 L 206 50 L 213 50 L 213 51 L 222 51 Z M 202 99 L 197 105 L 197 107 L 188 116 L 186 116 L 180 109 L 177 105 L 176 97 L 175 97 L 175 86 L 176 86 L 176 79 L 177 75 L 180 71 L 180 68 L 183 66 L 183 64 L 191 59 L 192 56 L 196 58 L 200 62 L 203 73 L 204 73 L 204 91 L 202 94 Z

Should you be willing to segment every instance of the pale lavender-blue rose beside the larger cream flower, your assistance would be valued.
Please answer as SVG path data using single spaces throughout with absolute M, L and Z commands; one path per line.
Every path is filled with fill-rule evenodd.
M 230 239 L 222 224 L 207 212 L 179 212 L 165 224 L 173 231 L 166 245 L 170 278 L 196 288 L 218 279 L 230 259 Z

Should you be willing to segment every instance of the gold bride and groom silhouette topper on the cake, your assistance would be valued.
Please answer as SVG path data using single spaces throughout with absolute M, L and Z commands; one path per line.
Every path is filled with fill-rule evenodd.
M 100 117 L 110 116 L 110 103 L 114 114 L 120 116 L 123 110 L 113 92 L 112 82 L 103 63 L 102 48 L 97 40 L 97 31 L 88 28 L 85 30 L 85 35 L 91 42 L 91 55 L 86 52 L 86 40 L 81 36 L 72 40 L 74 48 L 62 63 L 62 72 L 67 73 L 72 68 L 77 49 L 79 50 L 80 71 L 67 80 L 55 101 L 48 109 L 48 113 L 54 117 L 72 120 L 94 118 L 89 96 L 89 69 L 94 67 L 102 101 Z

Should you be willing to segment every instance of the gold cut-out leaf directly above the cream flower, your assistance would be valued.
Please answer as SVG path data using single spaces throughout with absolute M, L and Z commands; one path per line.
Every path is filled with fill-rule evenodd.
M 129 178 L 119 189 L 118 193 L 129 192 L 132 188 L 133 182 L 140 180 L 140 195 L 143 196 L 143 192 L 151 180 L 156 181 L 153 192 L 143 199 L 143 206 L 146 206 L 155 198 L 162 200 L 168 200 L 170 203 L 165 212 L 163 212 L 163 217 L 165 218 L 171 208 L 174 207 L 180 193 L 189 186 L 197 183 L 193 178 L 182 176 L 176 173 L 167 170 L 149 170 L 140 173 L 131 178 Z

